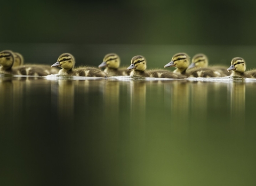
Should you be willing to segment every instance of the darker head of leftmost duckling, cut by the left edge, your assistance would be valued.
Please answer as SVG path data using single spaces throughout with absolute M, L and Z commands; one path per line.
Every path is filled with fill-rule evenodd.
M 0 65 L 3 70 L 9 70 L 14 63 L 14 54 L 11 50 L 3 50 L 0 52 Z

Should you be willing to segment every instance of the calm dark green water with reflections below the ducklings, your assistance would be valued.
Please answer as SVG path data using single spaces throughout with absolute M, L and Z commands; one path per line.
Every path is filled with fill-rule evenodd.
M 256 81 L 1 78 L 1 185 L 255 185 Z

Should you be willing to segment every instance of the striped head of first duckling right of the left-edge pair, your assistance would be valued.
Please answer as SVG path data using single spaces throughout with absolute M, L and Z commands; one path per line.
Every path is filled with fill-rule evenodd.
M 69 71 L 73 69 L 74 65 L 75 65 L 75 57 L 69 53 L 63 53 L 59 56 L 57 62 L 54 63 L 52 67 L 59 66 L 62 69 Z

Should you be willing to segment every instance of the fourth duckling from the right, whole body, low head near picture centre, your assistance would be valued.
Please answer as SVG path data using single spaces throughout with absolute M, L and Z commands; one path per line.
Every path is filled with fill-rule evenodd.
M 172 79 L 182 79 L 186 78 L 184 75 L 175 74 L 166 70 L 149 70 L 146 71 L 147 64 L 146 58 L 138 55 L 134 56 L 131 60 L 131 65 L 127 68 L 128 70 L 133 70 L 130 75 L 132 77 L 152 77 L 152 78 L 172 78 Z

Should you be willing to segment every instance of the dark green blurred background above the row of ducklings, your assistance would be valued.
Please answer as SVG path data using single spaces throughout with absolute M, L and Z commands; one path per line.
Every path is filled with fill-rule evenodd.
M 187 52 L 228 66 L 237 56 L 254 60 L 255 7 L 230 0 L 4 1 L 0 48 L 17 50 L 29 63 L 54 63 L 70 52 L 78 65 L 98 65 L 116 52 L 125 66 L 145 55 L 149 67 L 163 67 L 174 53 Z

